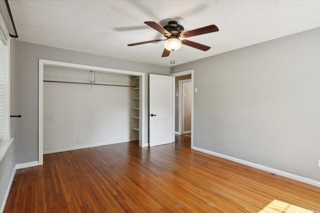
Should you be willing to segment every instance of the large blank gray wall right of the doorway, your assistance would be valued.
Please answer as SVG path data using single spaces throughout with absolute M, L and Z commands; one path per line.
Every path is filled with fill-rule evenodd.
M 320 181 L 320 28 L 171 72 L 189 69 L 195 147 Z

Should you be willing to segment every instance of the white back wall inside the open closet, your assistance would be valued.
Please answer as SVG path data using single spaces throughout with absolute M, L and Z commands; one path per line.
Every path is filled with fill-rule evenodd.
M 90 72 L 45 66 L 43 78 L 89 83 Z M 95 80 L 130 85 L 128 75 L 95 72 Z M 130 87 L 44 82 L 43 153 L 132 140 L 130 92 Z

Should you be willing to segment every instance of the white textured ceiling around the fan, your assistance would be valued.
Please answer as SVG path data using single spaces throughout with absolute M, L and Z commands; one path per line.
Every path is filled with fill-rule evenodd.
M 163 41 L 129 47 L 126 44 L 164 38 L 143 21 L 165 25 L 177 20 L 184 30 L 215 24 L 219 31 L 188 38 L 211 46 L 182 46 L 176 64 L 193 61 L 296 32 L 320 27 L 320 1 L 9 1 L 18 40 L 116 58 L 170 66 L 161 58 Z

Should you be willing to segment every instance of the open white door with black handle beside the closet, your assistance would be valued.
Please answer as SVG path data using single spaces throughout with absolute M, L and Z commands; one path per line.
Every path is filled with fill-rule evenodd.
M 173 77 L 149 75 L 149 146 L 173 142 Z

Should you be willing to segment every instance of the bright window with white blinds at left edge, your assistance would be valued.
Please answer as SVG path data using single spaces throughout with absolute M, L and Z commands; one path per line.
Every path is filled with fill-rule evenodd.
M 0 140 L 9 138 L 9 103 L 8 103 L 8 50 L 6 43 L 0 40 Z

